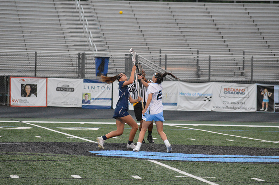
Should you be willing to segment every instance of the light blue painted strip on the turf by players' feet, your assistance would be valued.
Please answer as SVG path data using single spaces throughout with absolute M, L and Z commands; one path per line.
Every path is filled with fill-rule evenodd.
M 143 159 L 160 159 L 175 161 L 212 161 L 212 162 L 279 162 L 279 156 L 247 155 L 204 155 L 186 153 L 133 152 L 122 150 L 90 151 L 100 156 L 135 157 Z

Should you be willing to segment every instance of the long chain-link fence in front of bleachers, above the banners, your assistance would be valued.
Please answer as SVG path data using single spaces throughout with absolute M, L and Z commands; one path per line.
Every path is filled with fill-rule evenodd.
M 131 71 L 131 55 L 98 52 L 109 57 L 108 76 Z M 0 50 L 0 74 L 4 76 L 98 79 L 91 52 Z M 185 82 L 279 83 L 279 57 L 266 55 L 140 54 L 146 71 L 170 72 Z M 160 67 L 160 59 L 161 64 Z M 126 73 L 128 74 L 128 73 Z M 166 80 L 175 80 L 172 77 Z

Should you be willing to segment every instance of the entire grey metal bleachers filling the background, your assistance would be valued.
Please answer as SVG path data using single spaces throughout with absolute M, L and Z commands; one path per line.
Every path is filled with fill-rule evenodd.
M 248 67 L 243 69 L 233 59 L 220 59 L 217 62 L 213 60 L 209 71 L 208 62 L 203 63 L 201 60 L 202 55 L 241 58 L 244 50 L 253 50 L 250 52 L 253 55 L 279 55 L 268 53 L 279 50 L 278 4 L 112 0 L 88 0 L 80 1 L 80 4 L 93 42 L 101 55 L 121 53 L 123 57 L 133 48 L 140 55 L 148 55 L 150 61 L 157 65 L 161 57 L 158 55 L 160 49 L 163 51 L 162 56 L 198 50 L 198 66 L 194 56 L 197 52 L 190 52 L 193 60 L 182 55 L 168 58 L 172 65 L 168 65 L 167 70 L 176 73 L 181 79 L 207 78 L 210 73 L 216 79 L 218 76 L 219 79 L 224 76 L 239 80 L 251 78 L 249 62 L 246 62 Z M 123 11 L 123 14 L 120 15 L 119 11 Z M 4 49 L 91 52 L 75 1 L 66 0 L 0 0 L 0 50 Z M 260 53 L 261 51 L 267 52 Z M 123 70 L 123 58 L 110 61 L 109 65 L 115 67 L 109 68 L 109 74 Z M 188 66 L 185 65 L 187 60 Z M 26 71 L 33 71 L 33 63 L 28 61 L 29 59 L 24 60 L 22 66 Z M 5 62 L 11 61 L 3 61 L 1 66 L 8 71 L 9 67 Z M 260 69 L 260 63 L 255 62 L 255 68 Z M 66 67 L 71 66 L 71 62 L 68 65 L 67 58 L 64 64 Z M 53 66 L 54 63 L 50 62 L 49 65 Z M 87 65 L 91 66 L 87 71 L 91 74 L 89 77 L 94 76 L 94 59 L 88 60 Z M 278 69 L 277 62 L 270 62 L 270 65 L 264 65 L 263 68 L 266 66 L 273 66 L 274 71 Z M 15 67 L 12 62 L 11 67 Z M 42 76 L 50 72 L 47 64 L 40 69 Z M 186 69 L 188 76 L 184 77 Z M 64 72 L 62 70 L 59 73 L 63 75 Z M 64 76 L 67 77 L 67 74 Z M 273 72 L 272 78 L 277 77 L 277 72 Z

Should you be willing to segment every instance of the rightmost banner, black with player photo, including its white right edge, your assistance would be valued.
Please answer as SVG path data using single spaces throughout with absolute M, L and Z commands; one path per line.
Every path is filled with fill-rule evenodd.
M 278 85 L 257 85 L 257 111 L 279 112 Z

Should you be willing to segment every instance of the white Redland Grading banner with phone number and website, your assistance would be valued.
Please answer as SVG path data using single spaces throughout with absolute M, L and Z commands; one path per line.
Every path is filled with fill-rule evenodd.
M 213 83 L 213 111 L 255 112 L 256 84 Z

